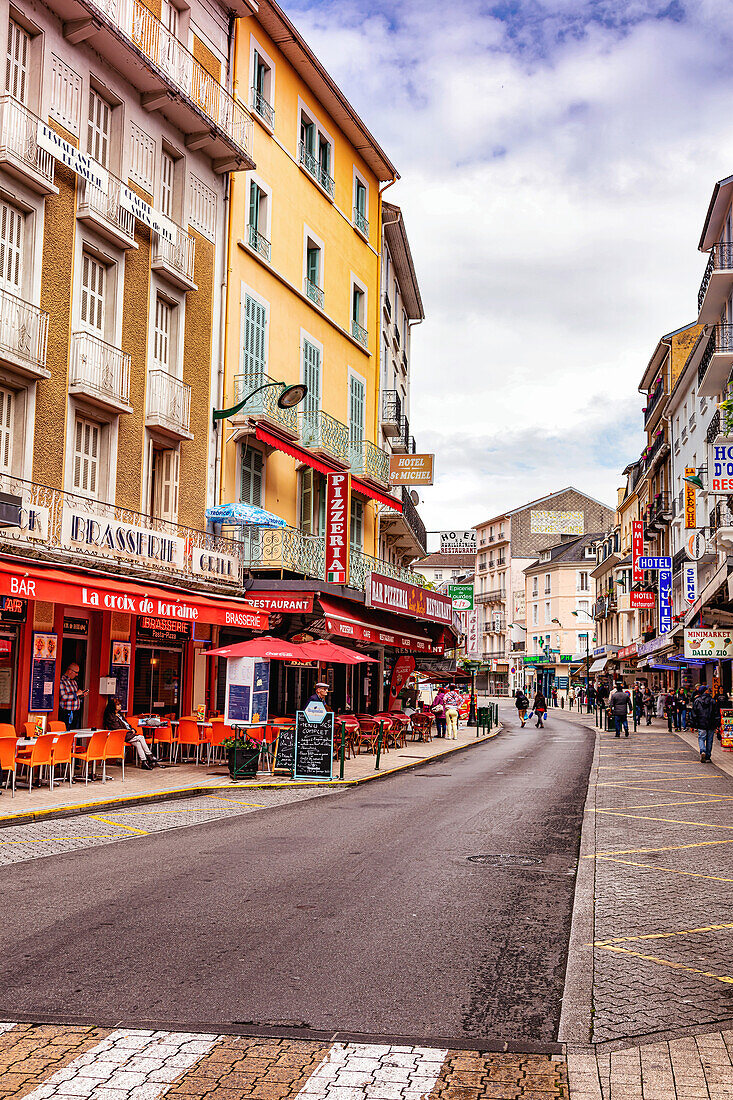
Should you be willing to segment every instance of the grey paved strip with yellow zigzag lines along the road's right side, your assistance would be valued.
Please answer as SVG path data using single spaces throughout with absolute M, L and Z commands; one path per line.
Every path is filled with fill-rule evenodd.
M 591 793 L 593 1042 L 733 1021 L 733 782 L 642 727 L 601 735 Z

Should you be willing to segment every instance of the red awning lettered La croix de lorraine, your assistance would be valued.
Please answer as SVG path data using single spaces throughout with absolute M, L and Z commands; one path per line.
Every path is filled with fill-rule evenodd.
M 253 630 L 265 630 L 270 622 L 266 612 L 243 600 L 203 596 L 183 588 L 135 584 L 99 573 L 75 573 L 20 561 L 0 561 L 0 595 Z

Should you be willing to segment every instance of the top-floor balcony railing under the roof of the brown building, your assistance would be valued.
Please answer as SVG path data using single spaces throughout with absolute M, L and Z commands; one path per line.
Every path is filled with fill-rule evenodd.
M 214 123 L 238 152 L 252 158 L 252 118 L 142 0 L 88 0 L 132 43 L 165 82 Z

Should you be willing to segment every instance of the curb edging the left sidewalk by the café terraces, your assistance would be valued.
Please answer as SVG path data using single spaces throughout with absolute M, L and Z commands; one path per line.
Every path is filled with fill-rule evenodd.
M 53 807 L 47 810 L 29 810 L 28 812 L 21 814 L 9 814 L 4 817 L 0 816 L 0 828 L 9 828 L 13 825 L 30 825 L 33 822 L 39 821 L 78 817 L 80 814 L 96 812 L 102 813 L 105 811 L 120 809 L 121 806 L 144 805 L 149 802 L 178 802 L 183 799 L 195 799 L 201 794 L 215 794 L 217 791 L 281 791 L 289 790 L 292 788 L 319 789 L 324 787 L 328 790 L 342 790 L 346 788 L 361 787 L 363 783 L 371 783 L 379 779 L 389 779 L 391 776 L 398 776 L 401 772 L 412 771 L 414 768 L 422 768 L 424 765 L 434 763 L 436 760 L 442 760 L 445 757 L 452 756 L 455 752 L 463 752 L 467 749 L 474 748 L 477 745 L 483 745 L 485 741 L 490 741 L 496 737 L 502 729 L 503 726 L 500 722 L 491 734 L 486 734 L 484 737 L 477 737 L 467 745 L 457 745 L 455 748 L 444 749 L 442 752 L 438 752 L 436 756 L 425 757 L 425 759 L 411 760 L 409 763 L 400 765 L 397 768 L 391 768 L 389 771 L 374 771 L 373 774 L 362 776 L 361 779 L 331 779 L 321 782 L 284 780 L 278 783 L 262 782 L 250 783 L 249 785 L 243 783 L 240 784 L 230 780 L 228 783 L 216 783 L 207 787 L 184 787 L 178 788 L 175 791 L 151 791 L 145 794 L 138 793 L 129 796 L 122 795 L 119 799 L 107 799 L 105 802 L 78 802 L 76 805 L 59 806 L 57 810 Z

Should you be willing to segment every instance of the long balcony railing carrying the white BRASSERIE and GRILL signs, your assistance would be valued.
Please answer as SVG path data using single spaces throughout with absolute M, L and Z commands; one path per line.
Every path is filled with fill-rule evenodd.
M 29 530 L 28 526 L 0 528 L 0 546 L 7 553 L 74 565 L 86 562 L 89 568 L 101 566 L 107 571 L 113 565 L 116 571 L 138 581 L 160 582 L 161 574 L 164 573 L 166 579 L 175 579 L 178 583 L 198 591 L 204 585 L 226 588 L 230 593 L 232 588 L 241 591 L 242 550 L 238 541 L 167 520 L 154 519 L 129 508 L 92 501 L 76 493 L 65 493 L 63 490 L 11 477 L 8 474 L 0 474 L 0 491 L 20 496 L 25 515 L 34 514 L 35 519 L 35 527 L 32 530 Z M 73 517 L 79 517 L 76 525 L 73 524 Z M 143 543 L 150 548 L 149 552 L 154 554 L 154 559 L 153 557 L 145 559 L 134 551 L 125 553 L 124 548 L 128 543 L 124 540 L 118 544 L 117 541 L 100 540 L 98 543 L 94 539 L 74 538 L 75 526 L 78 530 L 79 526 L 85 526 L 85 519 L 106 520 L 112 525 L 120 525 L 122 530 L 132 529 L 133 532 L 141 531 L 145 536 L 153 532 L 161 538 L 169 539 L 171 546 L 165 553 L 155 553 L 155 539 L 153 538 L 151 544 L 147 538 L 144 538 Z M 211 556 L 226 556 L 232 564 L 231 574 L 211 573 L 206 578 L 203 576 L 196 568 L 201 559 L 201 553 L 197 551 Z

